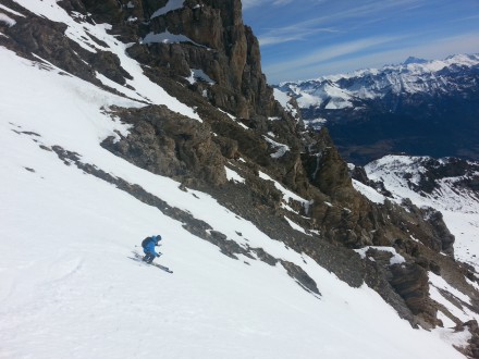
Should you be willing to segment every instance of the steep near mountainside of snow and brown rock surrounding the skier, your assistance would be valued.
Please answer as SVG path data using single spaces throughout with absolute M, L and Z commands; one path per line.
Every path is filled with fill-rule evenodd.
M 439 214 L 355 190 L 241 1 L 200 4 L 1 0 L 0 356 L 474 357 Z M 133 260 L 151 234 L 173 274 Z

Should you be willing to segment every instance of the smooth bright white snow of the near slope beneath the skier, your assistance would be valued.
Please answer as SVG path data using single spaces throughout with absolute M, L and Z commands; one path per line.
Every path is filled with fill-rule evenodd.
M 74 26 L 56 1 L 17 2 Z M 103 29 L 90 30 L 110 41 Z M 121 61 L 128 72 L 137 66 Z M 185 193 L 179 183 L 101 148 L 115 131 L 128 131 L 102 109 L 142 103 L 1 47 L 0 63 L 7 84 L 0 87 L 0 143 L 8 149 L 0 153 L 0 357 L 464 358 L 437 333 L 413 330 L 366 285 L 349 287 L 209 195 Z M 160 88 L 131 73 L 132 86 L 152 99 L 150 90 Z M 162 101 L 180 107 L 172 98 Z M 243 256 L 232 260 L 183 223 L 65 165 L 45 149 L 54 145 L 140 185 L 240 245 L 300 265 L 321 298 L 300 288 L 281 265 Z M 174 274 L 128 259 L 135 245 L 157 233 L 163 237 L 159 262 Z

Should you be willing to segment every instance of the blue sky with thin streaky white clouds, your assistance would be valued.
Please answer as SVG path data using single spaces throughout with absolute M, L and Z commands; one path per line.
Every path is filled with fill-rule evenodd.
M 479 53 L 479 0 L 243 0 L 270 84 Z

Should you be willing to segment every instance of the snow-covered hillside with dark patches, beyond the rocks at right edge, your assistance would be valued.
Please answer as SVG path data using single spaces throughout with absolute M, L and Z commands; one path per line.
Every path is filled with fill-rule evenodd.
M 397 201 L 410 199 L 444 216 L 456 242 L 455 258 L 479 265 L 479 163 L 454 158 L 386 156 L 365 166 Z

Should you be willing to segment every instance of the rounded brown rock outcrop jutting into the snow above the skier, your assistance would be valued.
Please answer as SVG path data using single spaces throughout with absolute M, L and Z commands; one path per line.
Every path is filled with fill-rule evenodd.
M 226 182 L 225 159 L 204 123 L 172 112 L 164 106 L 118 110 L 134 124 L 126 138 L 108 138 L 102 146 L 152 173 L 194 185 Z

